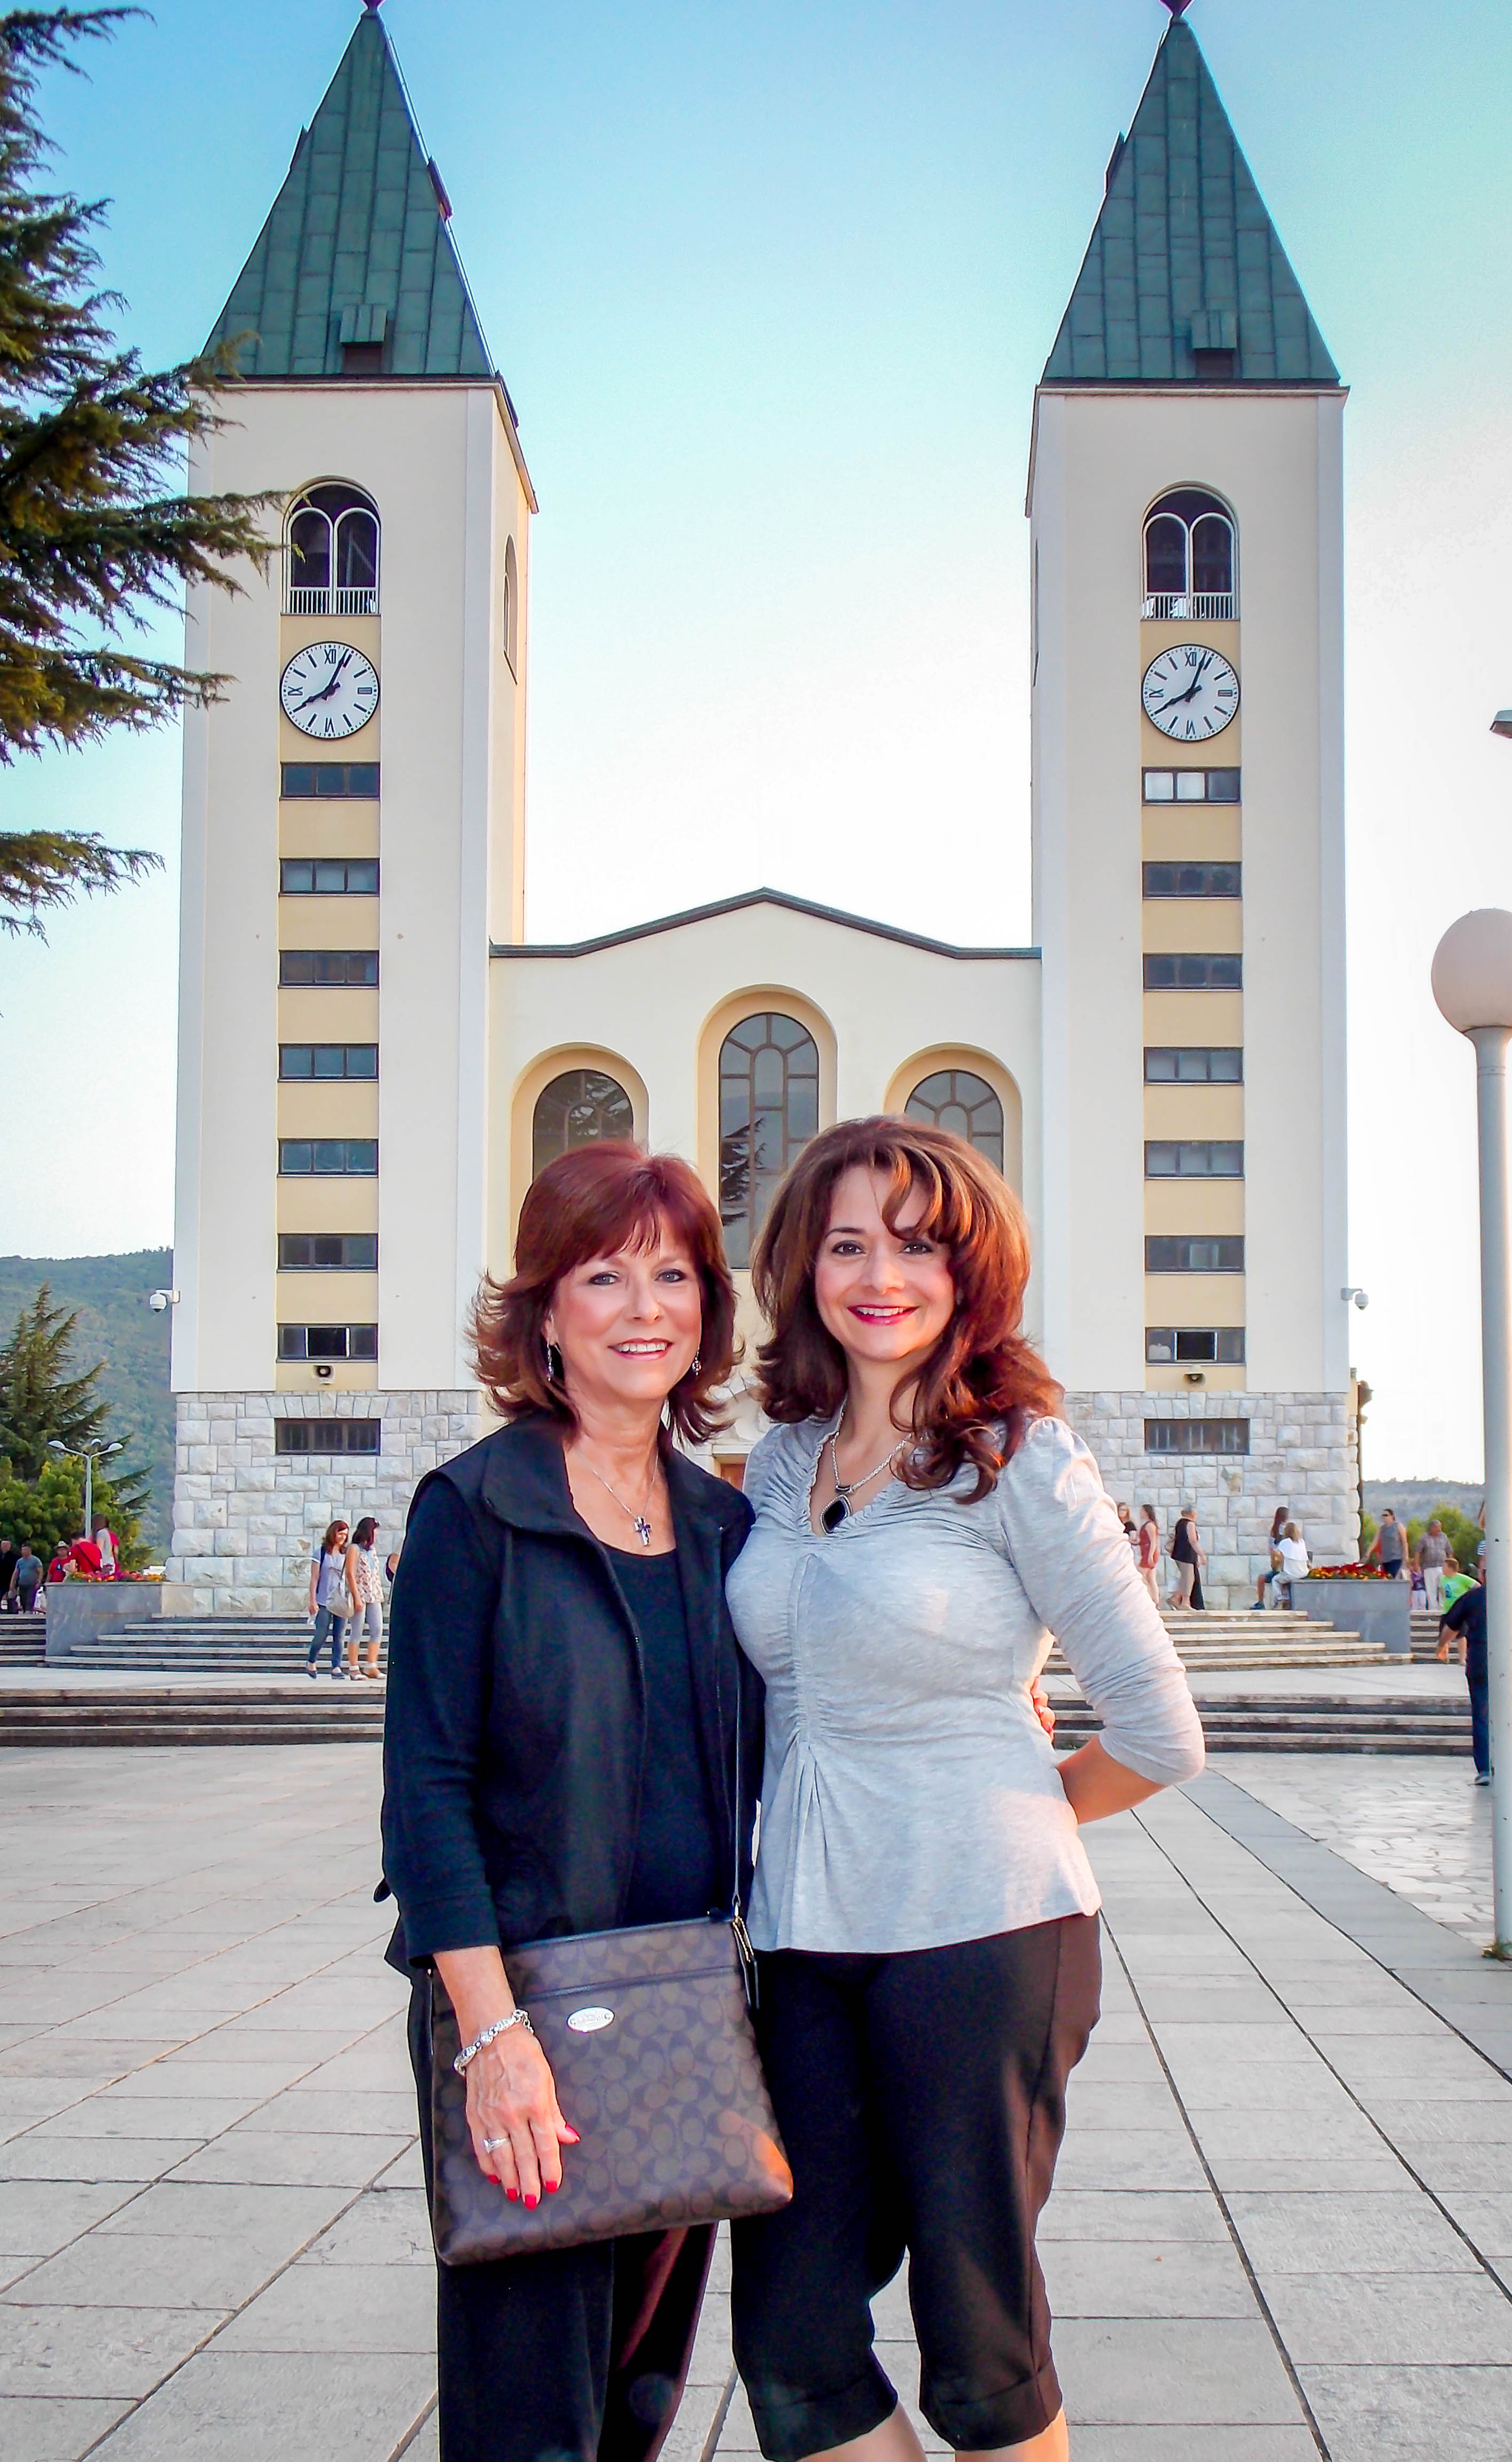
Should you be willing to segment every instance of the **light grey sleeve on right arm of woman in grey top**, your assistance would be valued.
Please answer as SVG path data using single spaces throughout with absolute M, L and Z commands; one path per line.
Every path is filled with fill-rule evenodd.
M 1103 1721 L 1103 1748 L 1162 1787 L 1197 1778 L 1207 1753 L 1187 1672 L 1081 1438 L 1032 1421 L 997 1499 L 1015 1571 Z

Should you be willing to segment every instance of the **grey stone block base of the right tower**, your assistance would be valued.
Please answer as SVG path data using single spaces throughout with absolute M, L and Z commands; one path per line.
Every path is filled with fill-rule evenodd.
M 1103 1487 L 1160 1514 L 1160 1541 L 1182 1504 L 1207 1549 L 1209 1608 L 1253 1605 L 1268 1566 L 1271 1514 L 1285 1504 L 1315 1563 L 1359 1556 L 1359 1465 L 1347 1393 L 1066 1393 L 1066 1416 L 1098 1458 Z M 1148 1453 L 1145 1421 L 1246 1418 L 1249 1453 Z

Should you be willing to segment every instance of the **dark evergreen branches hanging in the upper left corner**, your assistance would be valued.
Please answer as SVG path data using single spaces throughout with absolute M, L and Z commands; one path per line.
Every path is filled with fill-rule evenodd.
M 219 697 L 222 677 L 133 652 L 187 581 L 236 588 L 266 564 L 271 497 L 187 495 L 182 460 L 222 416 L 234 355 L 150 372 L 111 332 L 96 288 L 103 204 L 44 187 L 37 76 L 135 7 L 0 15 L 0 763 L 113 726 L 145 729 Z M 101 837 L 0 832 L 0 926 L 79 891 L 118 889 L 158 862 Z

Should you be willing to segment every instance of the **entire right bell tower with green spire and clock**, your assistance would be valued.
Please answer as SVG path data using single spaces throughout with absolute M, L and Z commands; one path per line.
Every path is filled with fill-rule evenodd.
M 1354 1554 L 1345 387 L 1172 5 L 1034 396 L 1044 1337 L 1239 1600 Z

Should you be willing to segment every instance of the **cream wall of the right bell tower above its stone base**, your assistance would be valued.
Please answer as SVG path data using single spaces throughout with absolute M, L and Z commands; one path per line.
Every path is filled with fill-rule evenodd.
M 1145 1229 L 1244 1229 L 1253 1391 L 1342 1386 L 1342 401 L 1042 391 L 1029 475 L 1034 569 L 1034 938 L 1044 950 L 1044 1307 L 1074 1389 L 1150 1381 Z M 1140 623 L 1148 505 L 1204 485 L 1239 519 L 1239 623 Z M 1140 707 L 1172 638 L 1212 640 L 1241 716 L 1177 751 Z M 1244 768 L 1244 805 L 1143 805 L 1140 771 Z M 1140 896 L 1140 852 L 1234 859 L 1244 908 Z M 1192 933 L 1192 936 L 1189 936 Z M 1143 948 L 1244 948 L 1244 995 L 1140 995 Z M 1184 1130 L 1182 1088 L 1145 1091 L 1145 1041 L 1244 1044 L 1244 1189 L 1143 1182 L 1148 1118 Z M 1212 1088 L 1189 1088 L 1189 1118 Z M 1170 1123 L 1170 1125 L 1167 1125 Z M 1285 1169 L 1253 1157 L 1285 1155 Z M 1234 1221 L 1239 1214 L 1239 1221 Z M 1184 1322 L 1197 1322 L 1189 1315 Z

